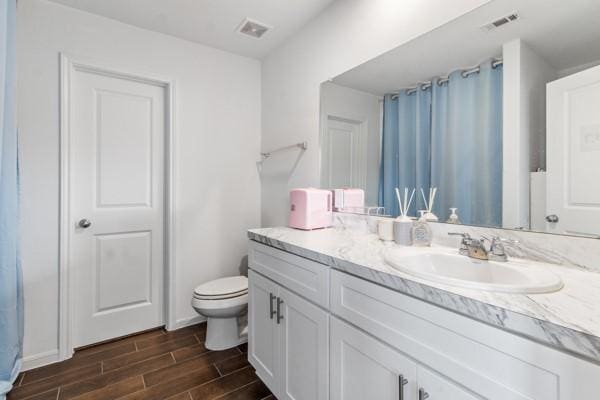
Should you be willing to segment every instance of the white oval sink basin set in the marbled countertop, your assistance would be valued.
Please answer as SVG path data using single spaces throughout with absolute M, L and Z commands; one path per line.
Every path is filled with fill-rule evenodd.
M 562 288 L 561 279 L 525 261 L 475 260 L 439 249 L 394 248 L 385 260 L 398 271 L 451 286 L 506 293 L 548 293 Z

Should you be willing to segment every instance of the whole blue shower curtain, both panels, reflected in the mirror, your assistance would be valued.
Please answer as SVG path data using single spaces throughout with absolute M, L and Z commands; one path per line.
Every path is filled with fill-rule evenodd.
M 380 201 L 398 215 L 394 188 L 416 188 L 409 215 L 425 208 L 437 187 L 433 212 L 440 221 L 458 208 L 465 224 L 502 224 L 502 67 L 450 75 L 431 89 L 384 98 Z

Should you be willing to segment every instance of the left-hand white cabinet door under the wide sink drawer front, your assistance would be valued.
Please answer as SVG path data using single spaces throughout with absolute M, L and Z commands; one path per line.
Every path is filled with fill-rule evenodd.
M 416 400 L 416 377 L 411 359 L 331 317 L 332 400 Z

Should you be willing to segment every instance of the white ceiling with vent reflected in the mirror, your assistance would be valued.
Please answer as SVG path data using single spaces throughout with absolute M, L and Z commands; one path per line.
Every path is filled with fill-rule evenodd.
M 480 29 L 517 12 L 519 20 Z M 333 79 L 342 86 L 383 95 L 502 55 L 521 38 L 557 72 L 600 63 L 600 1 L 494 0 L 405 45 Z

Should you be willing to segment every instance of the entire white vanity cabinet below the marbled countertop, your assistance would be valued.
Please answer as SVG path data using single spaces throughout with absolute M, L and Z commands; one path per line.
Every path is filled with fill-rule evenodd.
M 599 365 L 507 330 L 256 242 L 249 265 L 248 357 L 279 400 L 600 393 Z

